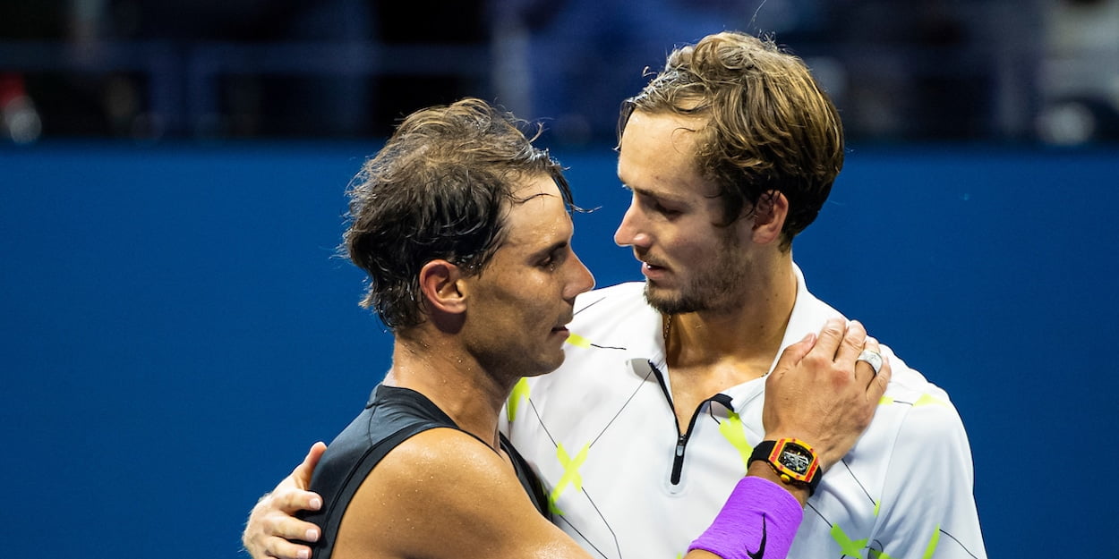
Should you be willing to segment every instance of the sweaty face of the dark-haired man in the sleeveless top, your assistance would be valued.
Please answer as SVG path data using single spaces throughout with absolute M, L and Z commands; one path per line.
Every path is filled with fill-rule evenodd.
M 515 197 L 504 243 L 467 280 L 464 334 L 488 370 L 543 375 L 563 363 L 575 295 L 594 278 L 572 250 L 571 217 L 552 178 L 526 180 Z

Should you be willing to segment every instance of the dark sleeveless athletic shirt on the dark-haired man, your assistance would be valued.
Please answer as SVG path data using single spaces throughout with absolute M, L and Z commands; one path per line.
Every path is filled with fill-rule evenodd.
M 319 541 L 310 544 L 311 557 L 330 559 L 342 515 L 377 463 L 410 437 L 438 427 L 459 429 L 422 394 L 383 385 L 373 390 L 365 410 L 330 443 L 311 477 L 311 491 L 322 495 L 323 503 L 318 511 L 299 514 L 321 530 Z M 547 498 L 539 480 L 504 434 L 501 449 L 513 459 L 517 479 L 536 510 L 547 517 Z

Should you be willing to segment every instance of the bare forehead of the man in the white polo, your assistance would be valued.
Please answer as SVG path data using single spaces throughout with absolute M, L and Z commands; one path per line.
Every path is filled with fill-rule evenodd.
M 696 142 L 706 119 L 634 111 L 619 145 L 618 177 L 651 193 L 709 196 L 714 184 L 696 164 Z

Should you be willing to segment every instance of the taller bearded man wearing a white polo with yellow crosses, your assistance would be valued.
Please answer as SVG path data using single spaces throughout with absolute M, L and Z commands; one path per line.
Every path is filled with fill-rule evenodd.
M 809 293 L 791 243 L 839 172 L 841 125 L 799 59 L 737 34 L 673 53 L 621 125 L 633 198 L 614 241 L 646 282 L 580 296 L 563 367 L 521 380 L 506 429 L 584 548 L 673 559 L 772 448 L 775 358 L 839 315 Z M 883 352 L 893 381 L 789 557 L 986 557 L 959 415 Z

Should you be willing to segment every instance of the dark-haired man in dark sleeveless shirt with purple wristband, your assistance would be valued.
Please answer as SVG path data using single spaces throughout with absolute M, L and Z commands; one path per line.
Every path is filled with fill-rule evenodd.
M 594 285 L 572 252 L 558 163 L 513 115 L 466 100 L 408 116 L 349 195 L 345 246 L 369 276 L 363 305 L 394 333 L 393 364 L 318 467 L 321 445 L 286 482 L 314 468 L 322 498 L 305 521 L 282 519 L 302 529 L 286 533 L 307 534 L 317 559 L 590 557 L 548 521 L 536 477 L 498 433 L 517 381 L 563 362 L 575 296 Z M 833 321 L 790 347 L 767 386 L 772 433 L 843 455 L 890 378 L 888 364 L 877 378 L 856 369 L 864 345 L 877 350 L 857 323 Z M 688 559 L 786 556 L 812 486 L 765 461 L 747 474 Z M 289 502 L 263 510 L 308 509 L 311 493 L 276 495 Z M 255 557 L 308 556 L 250 541 Z

